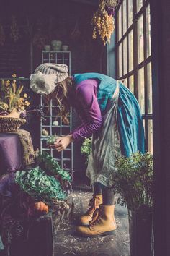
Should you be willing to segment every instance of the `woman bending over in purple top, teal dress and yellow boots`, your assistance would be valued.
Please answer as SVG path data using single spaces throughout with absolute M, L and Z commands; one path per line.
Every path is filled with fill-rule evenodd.
M 80 127 L 55 141 L 55 150 L 61 152 L 71 142 L 92 135 L 86 175 L 94 185 L 94 195 L 77 231 L 83 236 L 113 234 L 115 160 L 138 150 L 144 153 L 138 101 L 128 88 L 107 75 L 85 73 L 69 77 L 65 64 L 41 64 L 30 77 L 30 87 L 44 95 L 46 101 L 56 100 L 64 122 L 68 122 L 70 106 L 81 118 Z

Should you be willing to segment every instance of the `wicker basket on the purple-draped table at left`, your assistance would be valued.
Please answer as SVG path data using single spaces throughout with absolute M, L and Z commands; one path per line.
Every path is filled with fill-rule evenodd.
M 0 117 L 0 132 L 17 132 L 26 120 L 16 117 Z

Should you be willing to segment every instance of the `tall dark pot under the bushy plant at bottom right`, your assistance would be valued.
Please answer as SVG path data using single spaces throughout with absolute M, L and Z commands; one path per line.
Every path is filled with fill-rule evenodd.
M 128 210 L 130 256 L 153 256 L 153 212 Z

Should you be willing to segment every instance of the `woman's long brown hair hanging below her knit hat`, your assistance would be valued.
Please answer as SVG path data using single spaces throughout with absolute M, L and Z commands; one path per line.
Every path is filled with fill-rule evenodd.
M 59 106 L 60 112 L 58 115 L 61 116 L 62 121 L 64 124 L 69 124 L 68 121 L 68 114 L 70 112 L 71 107 L 71 91 L 72 91 L 72 80 L 71 77 L 67 77 L 62 82 L 59 82 L 53 93 L 50 93 L 49 95 L 43 96 L 43 100 L 45 103 L 50 105 L 50 100 L 53 99 L 57 102 L 57 105 Z

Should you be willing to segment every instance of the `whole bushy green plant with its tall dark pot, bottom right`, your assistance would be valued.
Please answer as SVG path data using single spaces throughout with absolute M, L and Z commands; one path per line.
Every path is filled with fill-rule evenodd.
M 117 158 L 115 189 L 128 206 L 131 256 L 153 255 L 153 157 L 133 153 Z

